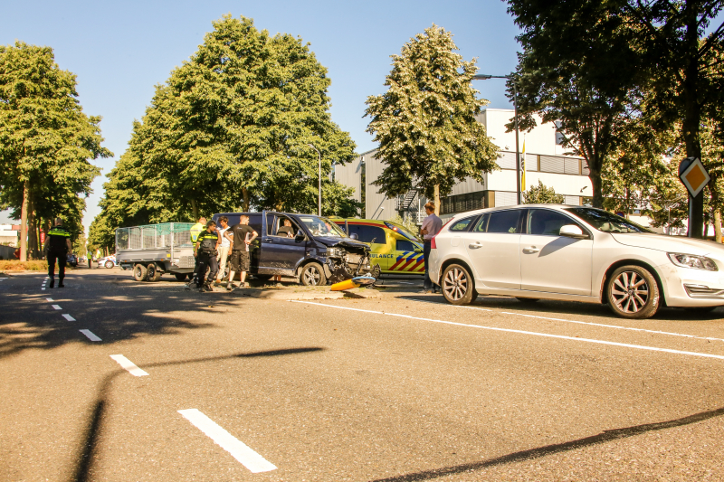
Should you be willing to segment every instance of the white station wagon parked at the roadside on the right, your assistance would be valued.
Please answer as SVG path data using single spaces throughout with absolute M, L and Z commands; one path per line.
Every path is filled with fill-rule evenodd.
M 724 246 L 664 236 L 600 209 L 527 204 L 458 214 L 432 241 L 453 305 L 479 294 L 608 304 L 620 317 L 724 305 Z

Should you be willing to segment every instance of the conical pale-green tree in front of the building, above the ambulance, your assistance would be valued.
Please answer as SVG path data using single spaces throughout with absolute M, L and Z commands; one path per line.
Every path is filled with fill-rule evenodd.
M 452 33 L 433 24 L 392 56 L 389 89 L 367 97 L 367 132 L 386 165 L 373 184 L 390 197 L 421 188 L 436 213 L 456 182 L 483 182 L 498 168 L 498 148 L 475 120 L 488 103 L 472 88 L 475 60 L 462 61 L 457 50 Z

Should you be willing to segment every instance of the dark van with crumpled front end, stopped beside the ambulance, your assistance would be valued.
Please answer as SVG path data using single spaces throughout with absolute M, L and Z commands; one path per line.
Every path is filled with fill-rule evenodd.
M 379 276 L 369 262 L 369 246 L 350 238 L 329 219 L 316 214 L 218 213 L 237 224 L 242 214 L 259 237 L 250 247 L 250 274 L 269 280 L 274 275 L 291 276 L 302 285 L 319 286 L 357 276 Z

